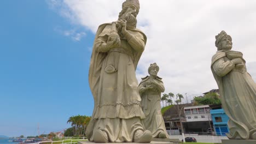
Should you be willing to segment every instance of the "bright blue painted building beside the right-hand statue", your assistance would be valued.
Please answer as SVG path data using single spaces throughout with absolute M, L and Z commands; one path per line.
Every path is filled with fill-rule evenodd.
M 216 135 L 226 136 L 229 133 L 228 120 L 229 117 L 226 115 L 223 109 L 210 110 L 212 115 L 213 128 Z

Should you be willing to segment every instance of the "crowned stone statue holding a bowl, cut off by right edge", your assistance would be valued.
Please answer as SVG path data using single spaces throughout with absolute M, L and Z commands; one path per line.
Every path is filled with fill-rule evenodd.
M 231 51 L 232 39 L 224 31 L 216 35 L 217 53 L 211 69 L 222 106 L 229 116 L 229 139 L 256 140 L 256 84 L 247 73 L 243 54 Z

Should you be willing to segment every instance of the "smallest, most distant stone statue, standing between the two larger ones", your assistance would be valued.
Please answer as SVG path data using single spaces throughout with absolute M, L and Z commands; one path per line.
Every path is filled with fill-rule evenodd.
M 139 83 L 138 91 L 141 95 L 142 110 L 146 116 L 144 126 L 150 130 L 154 138 L 169 138 L 165 122 L 162 118 L 160 98 L 161 93 L 165 91 L 164 83 L 157 76 L 159 71 L 156 63 L 150 64 L 148 68 L 149 76 L 142 78 Z

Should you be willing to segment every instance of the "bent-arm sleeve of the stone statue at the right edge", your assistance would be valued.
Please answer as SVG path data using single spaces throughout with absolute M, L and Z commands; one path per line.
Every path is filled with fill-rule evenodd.
M 224 61 L 224 58 L 219 58 L 212 65 L 214 73 L 218 76 L 223 77 L 228 74 L 232 69 L 235 68 L 235 64 L 232 61 Z

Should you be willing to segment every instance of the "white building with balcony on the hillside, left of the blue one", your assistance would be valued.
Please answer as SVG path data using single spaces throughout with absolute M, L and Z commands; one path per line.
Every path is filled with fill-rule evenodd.
M 187 122 L 212 121 L 209 105 L 184 107 L 184 113 Z

